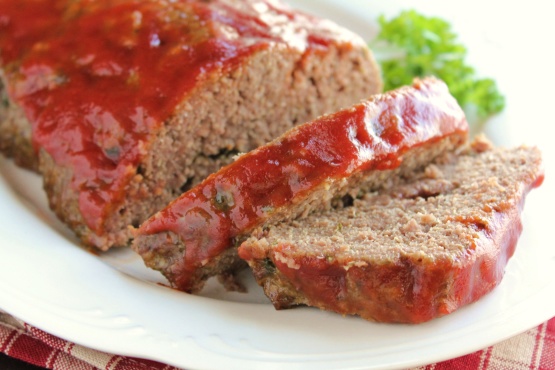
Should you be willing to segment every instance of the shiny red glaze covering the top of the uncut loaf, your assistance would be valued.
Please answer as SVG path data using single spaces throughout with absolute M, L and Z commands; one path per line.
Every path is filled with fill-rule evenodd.
M 297 32 L 311 18 L 292 22 L 273 4 L 0 0 L 10 97 L 32 123 L 34 147 L 73 172 L 91 229 L 102 233 L 156 129 L 211 72 L 272 43 L 304 52 L 329 44 Z

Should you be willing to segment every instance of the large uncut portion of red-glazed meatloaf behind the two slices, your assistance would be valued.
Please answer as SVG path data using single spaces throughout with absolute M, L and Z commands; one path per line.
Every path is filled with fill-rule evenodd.
M 86 245 L 380 91 L 365 42 L 277 0 L 0 0 L 0 151 Z

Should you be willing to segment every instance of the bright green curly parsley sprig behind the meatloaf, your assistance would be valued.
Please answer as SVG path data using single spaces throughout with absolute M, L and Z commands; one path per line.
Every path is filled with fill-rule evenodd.
M 479 121 L 504 109 L 505 98 L 496 82 L 476 77 L 466 64 L 466 47 L 447 21 L 406 10 L 389 20 L 382 15 L 378 23 L 380 33 L 371 47 L 382 68 L 385 90 L 408 85 L 414 77 L 434 75 Z

